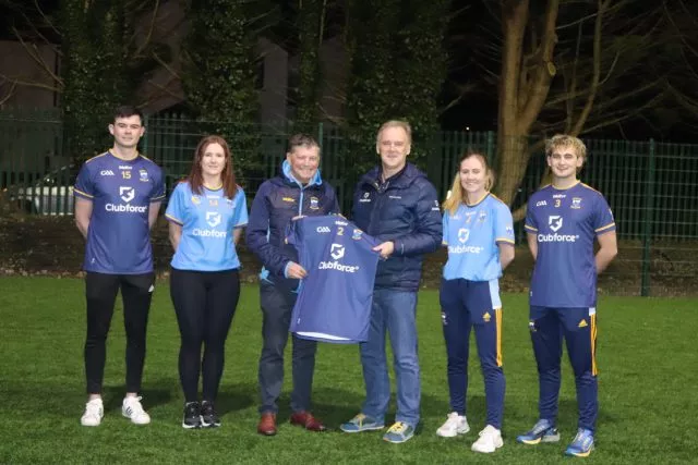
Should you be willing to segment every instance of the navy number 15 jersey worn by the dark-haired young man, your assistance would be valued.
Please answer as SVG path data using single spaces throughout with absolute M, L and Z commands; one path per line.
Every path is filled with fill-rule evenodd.
M 163 170 L 141 155 L 123 160 L 107 151 L 83 164 L 74 194 L 93 204 L 83 269 L 107 274 L 152 272 L 148 210 L 165 199 Z

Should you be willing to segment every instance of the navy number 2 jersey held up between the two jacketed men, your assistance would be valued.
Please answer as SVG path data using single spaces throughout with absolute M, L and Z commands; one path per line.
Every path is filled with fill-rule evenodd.
M 286 241 L 298 249 L 303 279 L 291 316 L 291 332 L 335 343 L 369 339 L 377 241 L 338 216 L 291 221 Z

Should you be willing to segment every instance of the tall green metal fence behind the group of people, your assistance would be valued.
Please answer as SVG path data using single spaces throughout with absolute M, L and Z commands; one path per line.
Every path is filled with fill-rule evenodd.
M 180 115 L 146 119 L 142 151 L 160 164 L 168 188 L 189 172 L 202 133 L 196 122 Z M 254 195 L 258 185 L 276 174 L 285 157 L 288 127 L 258 127 L 258 169 L 244 173 L 245 191 Z M 315 132 L 322 145 L 323 176 L 349 212 L 353 166 L 349 139 L 337 126 L 320 124 Z M 422 135 L 423 136 L 423 135 Z M 56 112 L 0 112 L 0 188 L 5 198 L 33 213 L 71 215 L 72 184 L 79 169 L 62 154 L 63 125 Z M 497 137 L 493 132 L 442 132 L 429 137 L 422 167 L 444 198 L 456 173 L 459 157 L 473 149 L 497 166 Z M 618 237 L 630 254 L 628 267 L 642 277 L 647 295 L 652 272 L 667 283 L 695 280 L 698 244 L 698 145 L 654 140 L 585 139 L 588 160 L 581 180 L 601 191 L 613 208 Z M 236 140 L 230 140 L 234 150 Z M 419 143 L 419 142 L 418 142 Z M 529 146 L 541 146 L 531 139 Z M 105 147 L 106 148 L 106 147 Z M 377 162 L 377 158 L 376 158 Z M 513 208 L 524 205 L 540 187 L 546 169 L 542 147 L 530 156 Z M 500 173 L 506 176 L 506 167 Z M 520 223 L 519 240 L 524 238 Z M 698 268 L 696 265 L 695 268 Z M 659 272 L 659 274 L 657 274 Z M 666 284 L 669 285 L 669 284 Z

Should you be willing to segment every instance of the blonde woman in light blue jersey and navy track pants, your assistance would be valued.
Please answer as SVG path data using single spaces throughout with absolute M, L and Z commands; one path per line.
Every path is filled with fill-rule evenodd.
M 498 279 L 514 259 L 514 222 L 509 208 L 490 188 L 494 174 L 486 159 L 466 154 L 458 163 L 444 207 L 444 266 L 440 301 L 447 353 L 450 409 L 436 430 L 444 438 L 470 430 L 466 418 L 468 352 L 474 328 L 485 386 L 488 418 L 476 452 L 491 453 L 503 445 L 502 414 L 505 379 L 502 370 L 502 302 Z

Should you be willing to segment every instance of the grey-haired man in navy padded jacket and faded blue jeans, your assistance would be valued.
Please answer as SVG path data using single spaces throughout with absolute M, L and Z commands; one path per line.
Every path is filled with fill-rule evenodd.
M 357 185 L 352 221 L 380 244 L 384 258 L 376 271 L 369 341 L 360 346 L 366 399 L 361 412 L 341 425 L 345 432 L 383 429 L 390 401 L 385 336 L 390 335 L 397 379 L 395 424 L 383 436 L 393 443 L 408 441 L 420 419 L 420 368 L 417 354 L 417 292 L 424 254 L 442 240 L 436 189 L 426 175 L 407 162 L 411 129 L 388 121 L 378 130 L 381 164 Z

